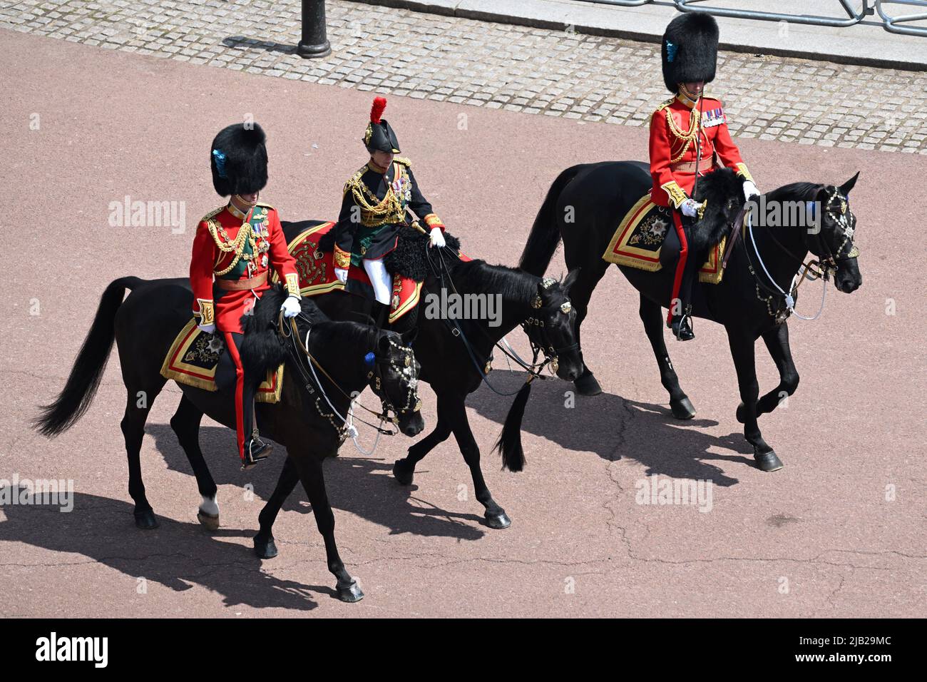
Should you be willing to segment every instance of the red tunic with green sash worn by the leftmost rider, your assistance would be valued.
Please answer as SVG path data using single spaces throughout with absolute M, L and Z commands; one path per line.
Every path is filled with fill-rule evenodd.
M 251 210 L 248 222 L 246 218 L 245 213 L 231 204 L 208 213 L 197 225 L 190 262 L 193 314 L 199 318 L 199 324 L 214 323 L 220 331 L 239 334 L 241 316 L 256 302 L 255 296 L 260 298 L 270 289 L 272 267 L 286 282 L 286 290 L 299 296 L 296 262 L 286 250 L 276 210 L 259 202 Z M 239 230 L 247 231 L 242 236 Z M 241 255 L 236 256 L 235 242 L 239 237 Z

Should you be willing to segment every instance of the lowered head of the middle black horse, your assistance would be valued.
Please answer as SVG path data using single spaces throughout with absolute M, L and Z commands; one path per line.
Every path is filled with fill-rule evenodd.
M 531 306 L 536 312 L 524 323 L 528 340 L 551 360 L 557 376 L 573 381 L 582 373 L 575 323 L 576 310 L 570 302 L 570 287 L 579 277 L 579 268 L 571 270 L 562 282 L 544 277 L 538 283 L 538 295 Z

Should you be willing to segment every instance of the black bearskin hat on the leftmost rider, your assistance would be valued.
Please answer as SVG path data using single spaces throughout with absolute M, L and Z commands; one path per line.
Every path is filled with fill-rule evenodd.
M 212 187 L 220 197 L 260 192 L 267 185 L 267 148 L 257 123 L 235 123 L 212 140 Z

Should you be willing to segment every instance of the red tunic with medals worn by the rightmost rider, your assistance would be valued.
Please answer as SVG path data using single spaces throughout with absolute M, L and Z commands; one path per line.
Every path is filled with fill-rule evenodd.
M 704 175 L 719 166 L 731 168 L 746 180 L 753 181 L 728 132 L 727 117 L 721 102 L 702 97 L 697 108 L 702 111 L 702 129 L 694 123 L 692 108 L 696 106 L 688 97 L 677 95 L 667 99 L 650 120 L 650 174 L 654 178 L 651 198 L 660 206 L 679 208 L 690 199 L 695 184 L 695 155 L 702 146 L 699 174 Z

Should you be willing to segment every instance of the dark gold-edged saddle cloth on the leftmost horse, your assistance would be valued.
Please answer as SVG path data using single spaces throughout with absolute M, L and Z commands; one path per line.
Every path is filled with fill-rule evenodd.
M 216 369 L 220 362 L 231 363 L 225 351 L 225 342 L 218 334 L 207 334 L 197 327 L 196 318 L 186 323 L 171 344 L 161 365 L 161 376 L 178 383 L 206 391 L 217 391 Z M 267 378 L 260 382 L 255 400 L 259 403 L 276 403 L 284 380 L 284 366 L 268 370 Z

